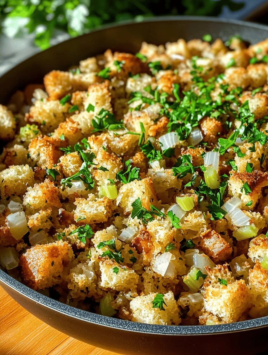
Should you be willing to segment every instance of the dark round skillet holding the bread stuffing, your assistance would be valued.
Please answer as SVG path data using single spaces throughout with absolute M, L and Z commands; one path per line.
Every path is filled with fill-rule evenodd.
M 104 27 L 38 53 L 11 69 L 0 78 L 0 103 L 7 103 L 12 93 L 29 83 L 42 82 L 47 72 L 67 70 L 107 48 L 136 53 L 142 41 L 159 45 L 178 38 L 202 38 L 206 33 L 223 40 L 239 34 L 244 40 L 257 43 L 268 37 L 268 26 L 177 16 Z M 0 285 L 26 310 L 59 331 L 121 354 L 253 355 L 268 349 L 268 317 L 218 326 L 156 326 L 67 306 L 33 291 L 1 270 Z

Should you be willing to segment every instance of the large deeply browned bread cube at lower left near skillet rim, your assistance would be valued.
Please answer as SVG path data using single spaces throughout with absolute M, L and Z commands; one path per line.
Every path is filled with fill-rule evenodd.
M 34 290 L 61 282 L 74 253 L 67 242 L 36 245 L 20 257 L 23 282 Z

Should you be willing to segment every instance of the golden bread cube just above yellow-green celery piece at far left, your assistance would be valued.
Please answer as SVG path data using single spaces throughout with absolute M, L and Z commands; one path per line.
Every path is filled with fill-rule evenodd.
M 26 121 L 40 126 L 42 133 L 53 132 L 65 120 L 69 108 L 68 103 L 61 105 L 58 100 L 36 100 L 25 116 Z

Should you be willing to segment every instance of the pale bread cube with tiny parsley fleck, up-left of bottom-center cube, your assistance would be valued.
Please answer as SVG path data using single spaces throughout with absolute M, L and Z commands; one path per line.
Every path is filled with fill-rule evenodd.
M 114 272 L 114 268 L 118 267 L 118 273 Z M 116 291 L 136 291 L 138 283 L 138 275 L 134 270 L 126 267 L 122 268 L 119 264 L 111 260 L 100 262 L 101 288 L 111 288 Z

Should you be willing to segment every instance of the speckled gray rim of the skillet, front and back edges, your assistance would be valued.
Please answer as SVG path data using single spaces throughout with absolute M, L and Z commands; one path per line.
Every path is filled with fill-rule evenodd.
M 204 21 L 204 22 L 216 22 L 216 23 L 230 23 L 230 24 L 238 24 L 241 26 L 252 27 L 256 29 L 264 29 L 268 30 L 268 26 L 254 23 L 254 22 L 246 22 L 241 20 L 228 20 L 224 18 L 216 18 L 216 17 L 209 17 L 209 16 L 159 16 L 159 17 L 150 17 L 142 22 L 150 23 L 150 22 L 161 22 L 161 21 Z M 101 32 L 106 29 L 115 28 L 115 27 L 122 27 L 125 25 L 137 24 L 139 22 L 136 21 L 122 21 L 119 24 L 105 24 L 97 29 L 93 29 L 89 33 L 92 32 Z M 87 36 L 89 33 L 83 34 L 82 36 Z M 79 36 L 79 37 L 82 37 Z M 70 38 L 64 42 L 69 42 L 70 44 L 72 41 L 75 41 L 76 38 Z M 63 43 L 63 42 L 61 42 Z M 61 45 L 61 43 L 57 44 L 56 46 Z M 53 46 L 53 47 L 56 47 Z M 51 47 L 52 48 L 52 47 Z M 31 58 L 43 55 L 46 51 L 50 50 L 48 48 L 44 51 L 36 53 L 33 56 L 23 60 L 22 62 L 18 63 L 10 70 L 4 72 L 0 78 L 4 77 L 7 73 L 10 73 L 14 68 L 19 66 L 21 63 L 27 62 Z M 255 318 L 252 320 L 246 320 L 242 322 L 235 322 L 235 323 L 228 323 L 228 324 L 218 324 L 214 326 L 164 326 L 158 324 L 147 324 L 147 323 L 137 323 L 132 321 L 125 321 L 122 319 L 111 318 L 99 315 L 97 313 L 89 312 L 80 310 L 79 308 L 74 308 L 67 304 L 61 303 L 56 301 L 50 297 L 44 296 L 41 293 L 29 288 L 28 286 L 24 285 L 23 283 L 17 281 L 16 279 L 12 278 L 6 272 L 0 269 L 0 284 L 5 284 L 8 288 L 15 290 L 22 296 L 25 296 L 27 299 L 31 299 L 36 303 L 50 308 L 55 312 L 62 313 L 66 316 L 77 318 L 79 320 L 89 322 L 92 324 L 97 324 L 100 326 L 108 327 L 108 328 L 115 328 L 123 331 L 130 331 L 130 332 L 137 332 L 137 333 L 146 333 L 146 334 L 155 334 L 155 335 L 209 335 L 209 334 L 224 334 L 224 333 L 234 333 L 234 332 L 241 332 L 247 331 L 250 329 L 256 328 L 263 328 L 268 326 L 268 316 Z

